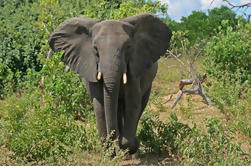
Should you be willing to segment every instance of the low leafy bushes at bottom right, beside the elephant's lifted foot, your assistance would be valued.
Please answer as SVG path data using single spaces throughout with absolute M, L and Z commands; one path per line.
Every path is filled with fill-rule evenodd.
M 201 131 L 179 122 L 175 114 L 167 124 L 149 112 L 144 113 L 139 130 L 143 151 L 169 152 L 181 165 L 248 165 L 251 161 L 239 143 L 233 142 L 233 133 L 219 119 L 205 120 Z

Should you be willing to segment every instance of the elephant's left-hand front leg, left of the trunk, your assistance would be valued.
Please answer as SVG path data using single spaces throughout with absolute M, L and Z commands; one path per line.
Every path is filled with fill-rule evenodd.
M 98 127 L 98 133 L 101 138 L 101 143 L 103 144 L 105 138 L 107 137 L 105 111 L 104 111 L 104 95 L 103 95 L 103 84 L 87 82 L 85 81 L 85 87 L 92 99 L 96 123 Z

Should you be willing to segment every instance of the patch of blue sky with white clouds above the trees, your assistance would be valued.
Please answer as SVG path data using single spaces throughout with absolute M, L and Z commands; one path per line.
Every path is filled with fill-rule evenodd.
M 212 9 L 214 7 L 220 7 L 221 5 L 228 6 L 226 2 L 222 0 L 159 0 L 161 3 L 165 3 L 168 5 L 168 15 L 171 19 L 175 21 L 180 21 L 181 17 L 189 16 L 192 11 L 203 11 L 206 12 L 208 9 Z M 229 0 L 235 5 L 240 5 L 244 3 L 251 2 L 251 0 Z M 233 9 L 238 15 L 243 15 L 245 12 L 247 15 L 251 14 L 251 7 L 248 9 Z

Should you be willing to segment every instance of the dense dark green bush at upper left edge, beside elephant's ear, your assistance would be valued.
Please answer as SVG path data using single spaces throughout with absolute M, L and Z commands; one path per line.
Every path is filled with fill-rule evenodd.
M 42 34 L 34 21 L 38 19 L 38 5 L 17 2 L 7 1 L 0 6 L 1 96 L 8 81 L 16 85 L 28 68 L 39 71 L 42 67 L 38 58 Z M 9 80 L 10 73 L 12 80 Z

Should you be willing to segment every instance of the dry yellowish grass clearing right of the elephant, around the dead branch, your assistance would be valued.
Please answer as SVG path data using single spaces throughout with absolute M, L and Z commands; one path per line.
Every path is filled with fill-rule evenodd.
M 185 59 L 182 60 L 185 61 Z M 203 73 L 201 66 L 202 61 L 203 59 L 199 58 L 195 62 L 200 73 Z M 248 133 L 250 132 L 248 126 L 251 124 L 251 116 L 248 111 L 248 108 L 250 108 L 250 105 L 248 106 L 248 103 L 250 104 L 250 97 L 239 99 L 237 104 L 226 106 L 222 110 L 216 104 L 213 106 L 205 104 L 199 95 L 183 95 L 176 107 L 171 109 L 170 106 L 177 96 L 179 80 L 188 78 L 188 74 L 185 73 L 183 69 L 183 66 L 173 58 L 160 59 L 159 70 L 153 82 L 153 93 L 148 108 L 160 108 L 158 109 L 159 117 L 165 123 L 169 122 L 168 118 L 170 114 L 175 113 L 182 123 L 188 124 L 190 127 L 196 124 L 201 131 L 206 130 L 205 121 L 207 119 L 212 117 L 218 118 L 222 121 L 223 125 L 227 126 L 226 130 L 234 130 L 233 135 L 231 135 L 235 138 L 234 141 L 241 142 L 245 152 L 250 154 L 251 137 L 249 135 L 250 133 Z M 208 79 L 209 82 L 213 80 L 212 78 Z M 203 86 L 208 89 L 207 94 L 212 95 L 207 82 L 203 84 Z M 218 91 L 218 93 L 214 95 L 219 94 L 220 92 Z M 173 95 L 172 99 L 165 102 L 170 98 L 170 95 Z M 156 102 L 155 98 L 158 98 L 158 101 L 161 102 Z M 244 114 L 245 116 L 238 116 L 240 114 Z

